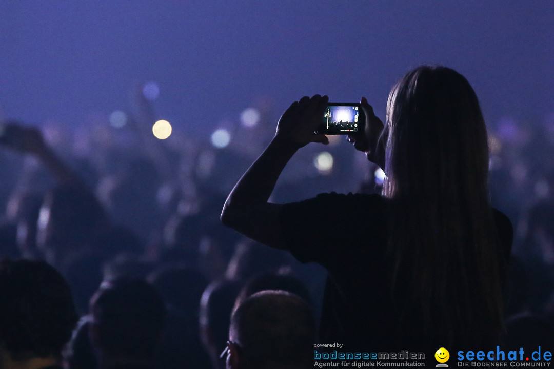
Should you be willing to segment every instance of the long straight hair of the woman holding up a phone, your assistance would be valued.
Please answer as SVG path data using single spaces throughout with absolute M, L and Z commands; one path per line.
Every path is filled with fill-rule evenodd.
M 452 69 L 420 66 L 392 89 L 385 134 L 393 293 L 410 296 L 430 336 L 491 342 L 501 327 L 504 266 L 474 90 Z M 405 278 L 411 287 L 399 283 Z

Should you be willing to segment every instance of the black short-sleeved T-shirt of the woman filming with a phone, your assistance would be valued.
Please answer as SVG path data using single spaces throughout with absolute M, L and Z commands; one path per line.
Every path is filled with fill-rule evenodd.
M 283 205 L 281 229 L 291 253 L 329 272 L 320 326 L 324 344 L 338 342 L 372 352 L 411 349 L 421 343 L 417 315 L 399 318 L 390 297 L 391 267 L 384 262 L 386 204 L 376 194 L 331 193 Z M 497 210 L 494 220 L 507 258 L 511 222 Z

